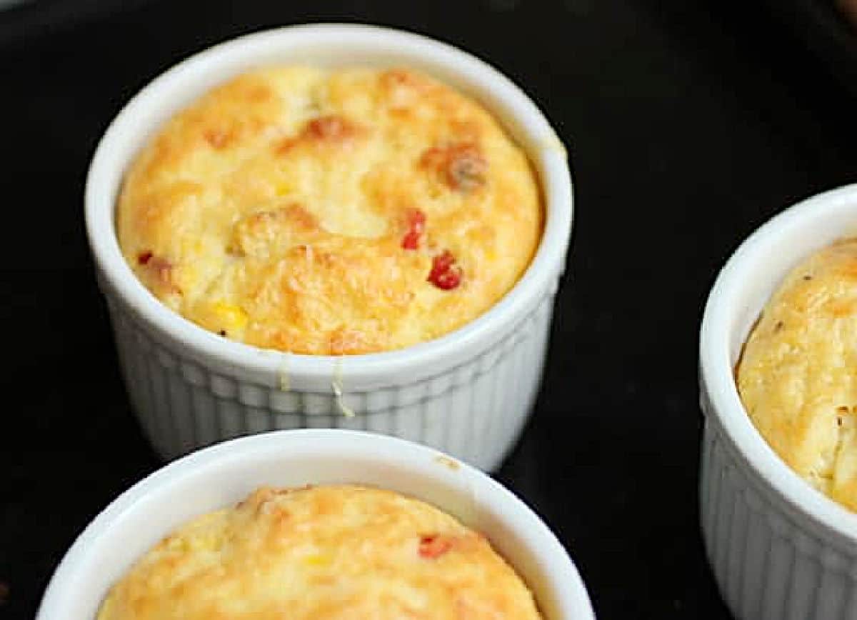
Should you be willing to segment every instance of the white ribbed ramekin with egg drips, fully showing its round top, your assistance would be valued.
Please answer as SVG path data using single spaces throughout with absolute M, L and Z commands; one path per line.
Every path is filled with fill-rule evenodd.
M 225 340 L 160 304 L 135 278 L 117 243 L 114 206 L 123 172 L 174 112 L 231 75 L 271 63 L 410 66 L 493 111 L 530 156 L 547 209 L 542 242 L 512 291 L 437 340 L 339 358 Z M 541 381 L 571 237 L 572 184 L 565 150 L 548 121 L 488 64 L 416 34 L 321 24 L 217 45 L 143 88 L 99 143 L 87 178 L 86 219 L 130 400 L 166 459 L 248 433 L 321 427 L 404 437 L 491 470 L 512 448 Z M 345 416 L 349 410 L 357 415 Z

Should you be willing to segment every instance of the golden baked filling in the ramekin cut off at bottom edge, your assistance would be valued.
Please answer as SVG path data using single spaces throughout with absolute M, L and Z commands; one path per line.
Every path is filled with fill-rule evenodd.
M 357 486 L 262 488 L 198 517 L 111 589 L 98 620 L 529 620 L 486 539 L 426 503 Z

